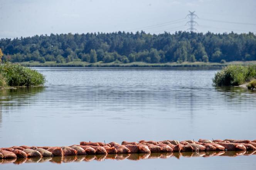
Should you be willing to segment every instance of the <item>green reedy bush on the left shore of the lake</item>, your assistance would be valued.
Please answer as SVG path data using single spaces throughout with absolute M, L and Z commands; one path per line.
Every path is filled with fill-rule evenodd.
M 0 64 L 0 74 L 7 86 L 38 86 L 45 83 L 41 73 L 19 64 Z

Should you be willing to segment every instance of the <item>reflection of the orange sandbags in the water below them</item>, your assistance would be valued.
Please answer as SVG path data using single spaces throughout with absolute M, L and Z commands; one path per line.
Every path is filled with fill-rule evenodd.
M 107 154 L 107 155 L 74 155 L 65 157 L 42 157 L 42 158 L 17 158 L 17 159 L 2 159 L 0 164 L 5 163 L 70 163 L 70 162 L 90 162 L 104 161 L 104 160 L 131 160 L 138 161 L 143 159 L 167 159 L 181 157 L 213 157 L 213 156 L 226 156 L 226 157 L 237 157 L 242 155 L 256 155 L 256 151 L 212 151 L 212 152 L 170 152 L 170 153 L 132 153 L 132 154 Z

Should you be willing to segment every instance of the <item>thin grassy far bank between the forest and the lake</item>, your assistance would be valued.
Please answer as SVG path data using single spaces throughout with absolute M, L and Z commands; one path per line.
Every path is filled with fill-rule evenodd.
M 88 63 L 88 62 L 68 62 L 68 63 L 56 63 L 56 62 L 21 62 L 26 67 L 224 67 L 227 65 L 253 65 L 256 61 L 250 62 L 226 62 L 226 63 L 205 63 L 205 62 L 183 62 L 183 63 L 145 63 L 145 62 L 132 62 L 132 63 Z

